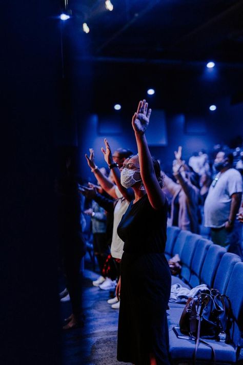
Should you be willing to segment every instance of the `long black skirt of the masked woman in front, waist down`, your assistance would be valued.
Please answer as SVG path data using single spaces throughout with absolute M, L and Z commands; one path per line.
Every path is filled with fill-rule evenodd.
M 118 321 L 117 360 L 169 365 L 167 305 L 171 274 L 164 254 L 124 253 Z

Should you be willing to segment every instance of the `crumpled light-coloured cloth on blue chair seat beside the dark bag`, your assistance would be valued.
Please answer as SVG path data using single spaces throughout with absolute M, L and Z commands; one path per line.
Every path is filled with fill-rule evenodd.
M 183 287 L 181 284 L 173 284 L 173 285 L 171 285 L 169 302 L 184 304 L 187 302 L 189 297 L 195 298 L 200 293 L 203 293 L 205 291 L 208 292 L 208 290 L 209 289 L 206 284 L 197 285 L 197 286 L 193 287 L 192 289 Z

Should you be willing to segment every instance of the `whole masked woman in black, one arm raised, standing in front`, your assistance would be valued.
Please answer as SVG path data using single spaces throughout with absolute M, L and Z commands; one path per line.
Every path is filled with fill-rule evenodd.
M 125 242 L 116 289 L 120 298 L 117 359 L 135 365 L 168 365 L 166 309 L 171 275 L 164 255 L 168 204 L 161 190 L 159 163 L 151 157 L 145 137 L 150 114 L 148 103 L 140 101 L 132 118 L 138 155 L 121 173 L 122 185 L 132 186 L 135 199 L 117 228 Z

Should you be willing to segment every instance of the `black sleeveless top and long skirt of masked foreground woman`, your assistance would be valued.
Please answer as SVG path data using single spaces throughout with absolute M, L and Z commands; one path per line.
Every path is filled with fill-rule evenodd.
M 152 208 L 147 194 L 130 203 L 117 228 L 125 242 L 121 265 L 117 360 L 169 364 L 167 305 L 171 274 L 165 258 L 167 207 Z

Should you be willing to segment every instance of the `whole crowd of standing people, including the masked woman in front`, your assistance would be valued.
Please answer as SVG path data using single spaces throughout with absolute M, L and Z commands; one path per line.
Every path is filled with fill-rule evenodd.
M 108 304 L 119 309 L 117 359 L 136 365 L 169 364 L 166 310 L 171 272 L 164 255 L 167 224 L 197 234 L 204 232 L 215 244 L 243 257 L 243 153 L 219 146 L 214 161 L 199 151 L 186 163 L 179 146 L 168 176 L 150 155 L 146 140 L 150 114 L 148 103 L 140 101 L 132 117 L 136 153 L 125 148 L 112 152 L 105 139 L 102 152 L 106 168 L 99 168 L 90 148 L 85 159 L 96 184 L 73 185 L 66 179 L 66 184 L 72 184 L 73 204 L 77 204 L 77 194 L 82 202 L 77 208 L 80 222 L 84 217 L 91 221 L 90 239 L 99 270 L 92 284 L 115 293 Z M 65 184 L 61 187 L 65 189 Z M 63 197 L 63 191 L 59 193 Z M 66 205 L 67 201 L 70 199 L 65 200 Z M 76 222 L 76 216 L 73 218 Z M 84 245 L 85 238 L 79 232 L 84 232 L 81 223 L 79 227 L 73 230 L 70 222 L 62 234 L 67 288 L 60 296 L 65 300 L 69 295 L 73 308 L 64 330 L 76 328 L 80 321 L 76 268 L 83 253 L 76 247 Z M 72 249 L 65 239 L 71 231 Z

